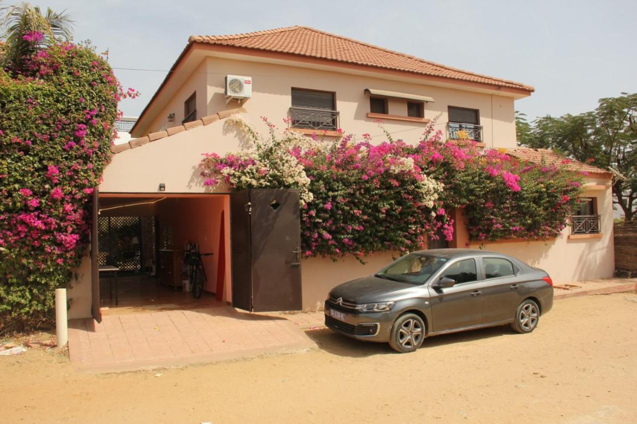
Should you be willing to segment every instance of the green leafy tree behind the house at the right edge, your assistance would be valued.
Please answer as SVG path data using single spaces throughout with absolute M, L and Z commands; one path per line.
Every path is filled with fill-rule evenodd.
M 594 111 L 538 118 L 516 117 L 518 143 L 552 148 L 615 174 L 614 202 L 626 221 L 637 217 L 637 93 L 599 99 Z

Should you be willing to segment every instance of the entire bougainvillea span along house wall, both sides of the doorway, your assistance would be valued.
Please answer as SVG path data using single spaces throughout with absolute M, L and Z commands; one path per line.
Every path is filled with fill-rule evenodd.
M 204 153 L 206 185 L 299 189 L 305 257 L 360 260 L 377 251 L 418 250 L 427 237 L 452 240 L 453 208 L 464 208 L 469 235 L 479 243 L 556 237 L 580 195 L 583 176 L 566 163 L 520 162 L 481 151 L 466 137 L 444 142 L 433 131 L 435 120 L 415 143 L 386 132 L 387 141 L 376 145 L 369 134 L 359 143 L 352 136 L 277 136 L 267 120 L 264 139 L 241 118 L 231 122 L 246 129 L 254 146 L 224 157 Z

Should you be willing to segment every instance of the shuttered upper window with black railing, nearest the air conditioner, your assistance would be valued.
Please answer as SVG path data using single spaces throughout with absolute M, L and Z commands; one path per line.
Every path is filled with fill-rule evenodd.
M 334 131 L 338 129 L 338 111 L 334 92 L 292 88 L 290 107 L 293 128 Z

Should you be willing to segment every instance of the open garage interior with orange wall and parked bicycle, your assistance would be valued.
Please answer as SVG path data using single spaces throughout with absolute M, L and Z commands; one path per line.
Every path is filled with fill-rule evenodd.
M 97 212 L 101 314 L 222 307 L 230 299 L 228 195 L 100 194 Z M 188 251 L 206 254 L 199 299 Z

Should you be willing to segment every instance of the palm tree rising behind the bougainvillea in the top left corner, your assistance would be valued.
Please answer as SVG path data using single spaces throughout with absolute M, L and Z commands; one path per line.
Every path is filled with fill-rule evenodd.
M 46 15 L 42 15 L 38 6 L 26 2 L 1 6 L 0 41 L 4 41 L 4 45 L 0 50 L 0 64 L 19 69 L 23 58 L 39 48 L 71 40 L 74 24 L 66 10 L 58 13 L 47 8 Z

